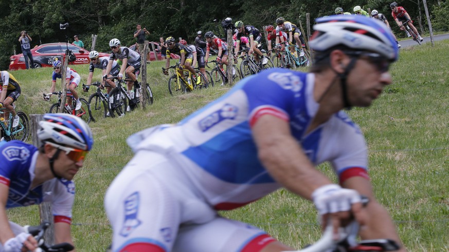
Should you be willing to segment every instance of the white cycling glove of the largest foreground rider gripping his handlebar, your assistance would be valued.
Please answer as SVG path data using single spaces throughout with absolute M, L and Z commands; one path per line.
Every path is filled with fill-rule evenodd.
M 319 215 L 339 211 L 349 211 L 351 205 L 361 202 L 356 190 L 345 189 L 336 184 L 324 185 L 312 193 L 312 200 Z

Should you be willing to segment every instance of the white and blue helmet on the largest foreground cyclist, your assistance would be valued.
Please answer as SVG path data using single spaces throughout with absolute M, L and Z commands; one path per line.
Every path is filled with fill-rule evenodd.
M 397 61 L 399 49 L 389 28 L 363 15 L 332 15 L 317 18 L 309 42 L 315 51 L 326 51 L 337 45 L 355 50 L 379 53 L 391 62 Z

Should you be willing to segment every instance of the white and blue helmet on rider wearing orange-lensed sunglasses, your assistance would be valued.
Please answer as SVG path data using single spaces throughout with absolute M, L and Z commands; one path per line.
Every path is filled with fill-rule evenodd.
M 39 125 L 41 129 L 38 131 L 38 138 L 42 142 L 81 150 L 91 150 L 94 145 L 91 128 L 73 114 L 44 114 Z

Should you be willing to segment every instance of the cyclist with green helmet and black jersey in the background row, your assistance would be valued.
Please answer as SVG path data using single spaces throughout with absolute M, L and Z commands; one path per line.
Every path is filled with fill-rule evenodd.
M 256 27 L 252 25 L 243 25 L 242 21 L 237 21 L 235 24 L 238 32 L 237 32 L 237 43 L 236 43 L 236 53 L 240 51 L 240 37 L 248 37 L 249 38 L 249 54 L 254 53 L 254 59 L 259 63 L 262 69 L 262 59 L 263 53 L 257 48 L 257 46 L 262 41 L 262 35 L 260 31 L 256 29 Z M 237 54 L 234 55 L 237 57 Z

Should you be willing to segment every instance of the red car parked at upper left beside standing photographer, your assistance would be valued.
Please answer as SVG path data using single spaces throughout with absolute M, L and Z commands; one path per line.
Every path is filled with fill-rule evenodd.
M 69 65 L 74 64 L 87 64 L 89 63 L 89 51 L 81 47 L 66 44 L 66 43 L 51 43 L 42 44 L 38 47 L 31 49 L 33 54 L 34 67 L 51 67 L 51 64 L 55 61 L 61 59 L 61 54 L 65 53 L 65 50 L 71 50 L 75 56 L 76 60 L 74 62 L 69 62 Z M 100 52 L 100 57 L 109 56 L 108 53 Z M 9 70 L 25 69 L 25 60 L 23 54 L 12 55 L 10 58 Z

